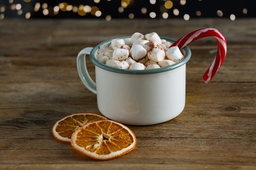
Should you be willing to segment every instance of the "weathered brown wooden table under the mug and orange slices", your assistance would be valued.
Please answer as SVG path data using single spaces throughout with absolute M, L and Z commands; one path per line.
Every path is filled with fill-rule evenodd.
M 201 27 L 219 29 L 228 53 L 205 84 L 215 39 L 190 44 L 180 116 L 129 126 L 137 148 L 109 161 L 90 160 L 54 140 L 56 120 L 72 112 L 99 113 L 96 95 L 77 75 L 79 50 L 136 31 L 178 39 Z M 256 169 L 255 30 L 255 18 L 0 21 L 0 169 Z M 89 72 L 95 76 L 91 63 Z

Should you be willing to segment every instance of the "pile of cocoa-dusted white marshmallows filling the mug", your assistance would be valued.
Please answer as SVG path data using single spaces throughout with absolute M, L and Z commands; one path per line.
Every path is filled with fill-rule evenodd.
M 117 69 L 158 69 L 181 61 L 184 56 L 178 46 L 161 39 L 157 33 L 134 33 L 131 38 L 112 39 L 96 53 L 100 63 Z

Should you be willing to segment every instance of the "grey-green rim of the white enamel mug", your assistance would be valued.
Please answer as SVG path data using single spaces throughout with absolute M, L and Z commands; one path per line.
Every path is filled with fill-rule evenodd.
M 123 37 L 116 37 L 116 38 L 113 38 L 113 39 L 125 39 L 125 38 L 131 38 L 131 36 L 123 36 Z M 176 40 L 175 39 L 171 39 L 169 37 L 163 37 L 163 36 L 160 36 L 161 39 L 165 39 L 166 41 L 170 41 L 170 42 L 175 42 Z M 161 67 L 159 69 L 144 69 L 144 70 L 133 70 L 133 69 L 117 69 L 117 68 L 114 68 L 114 67 L 110 67 L 104 63 L 100 63 L 98 61 L 98 59 L 96 59 L 96 50 L 98 50 L 100 48 L 100 46 L 102 44 L 106 44 L 106 43 L 109 43 L 111 42 L 112 39 L 109 39 L 107 41 L 104 41 L 104 42 L 100 42 L 100 44 L 97 44 L 93 50 L 91 50 L 91 53 L 90 53 L 90 60 L 98 67 L 100 67 L 101 69 L 104 69 L 104 70 L 107 70 L 107 71 L 112 71 L 112 72 L 115 72 L 115 73 L 123 73 L 123 74 L 131 74 L 131 75 L 145 75 L 145 74 L 154 74 L 154 73 L 161 73 L 161 72 L 165 72 L 165 71 L 170 71 L 170 70 L 173 70 L 173 69 L 177 69 L 178 67 L 181 67 L 182 65 L 184 65 L 185 63 L 187 63 L 189 61 L 189 59 L 191 58 L 191 50 L 190 48 L 188 48 L 188 46 L 184 46 L 184 51 L 185 51 L 185 56 L 184 58 L 173 64 L 173 65 L 169 65 L 169 66 L 166 66 L 166 67 Z

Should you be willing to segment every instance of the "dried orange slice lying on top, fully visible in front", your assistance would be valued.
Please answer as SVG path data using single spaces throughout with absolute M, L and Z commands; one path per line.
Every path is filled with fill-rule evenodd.
M 137 144 L 129 127 L 112 120 L 101 120 L 79 127 L 71 140 L 72 148 L 96 160 L 110 160 L 131 152 Z

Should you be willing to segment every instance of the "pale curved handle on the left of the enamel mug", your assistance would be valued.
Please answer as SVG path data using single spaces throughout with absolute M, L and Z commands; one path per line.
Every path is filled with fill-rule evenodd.
M 83 48 L 83 50 L 81 50 L 79 52 L 79 54 L 77 55 L 77 71 L 78 71 L 78 75 L 81 79 L 81 81 L 83 82 L 83 84 L 85 84 L 85 86 L 93 93 L 97 93 L 96 92 L 96 83 L 93 81 L 93 79 L 91 78 L 91 76 L 89 75 L 88 71 L 87 71 L 87 67 L 86 67 L 86 56 L 90 55 L 91 50 L 93 50 L 92 47 L 87 47 L 87 48 Z

